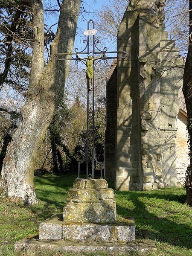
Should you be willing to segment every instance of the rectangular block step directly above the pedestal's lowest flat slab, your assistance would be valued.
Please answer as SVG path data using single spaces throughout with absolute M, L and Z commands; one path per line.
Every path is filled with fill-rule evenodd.
M 54 214 L 39 225 L 39 239 L 127 243 L 135 240 L 135 227 L 127 219 L 116 224 L 67 224 L 62 222 L 62 214 Z

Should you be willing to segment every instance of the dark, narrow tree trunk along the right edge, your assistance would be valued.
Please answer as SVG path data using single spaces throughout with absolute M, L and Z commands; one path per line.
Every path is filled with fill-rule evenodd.
M 189 10 L 192 9 L 192 0 L 189 0 Z M 190 164 L 186 172 L 186 204 L 192 206 L 192 12 L 189 12 L 189 47 L 183 76 L 183 95 L 187 109 L 187 130 L 189 133 Z

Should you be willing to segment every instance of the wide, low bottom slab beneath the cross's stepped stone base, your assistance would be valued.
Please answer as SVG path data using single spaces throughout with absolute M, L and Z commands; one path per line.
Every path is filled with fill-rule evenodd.
M 129 253 L 131 251 L 147 252 L 149 250 L 156 251 L 153 241 L 138 240 L 130 242 L 129 244 L 104 244 L 104 243 L 79 243 L 68 241 L 39 241 L 37 237 L 22 239 L 15 244 L 16 251 L 38 251 L 38 252 L 72 252 L 72 253 L 86 253 L 99 252 L 106 253 Z M 83 254 L 82 254 L 83 255 Z

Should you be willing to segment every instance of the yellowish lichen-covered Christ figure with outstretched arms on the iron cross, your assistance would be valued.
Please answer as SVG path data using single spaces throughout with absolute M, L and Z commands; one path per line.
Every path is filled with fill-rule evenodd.
M 76 56 L 80 59 L 86 62 L 86 78 L 88 81 L 88 86 L 89 86 L 89 91 L 93 91 L 93 75 L 94 75 L 94 71 L 93 71 L 93 61 L 98 60 L 100 58 L 105 57 L 105 54 L 103 54 L 102 56 L 99 56 L 97 58 L 93 58 L 93 56 L 89 55 L 88 58 L 81 58 L 77 53 Z

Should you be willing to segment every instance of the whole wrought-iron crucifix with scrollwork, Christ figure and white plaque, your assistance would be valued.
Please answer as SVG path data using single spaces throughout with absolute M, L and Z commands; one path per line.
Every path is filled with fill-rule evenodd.
M 92 24 L 92 29 L 90 29 L 90 24 Z M 119 59 L 119 58 L 126 58 L 125 51 L 108 51 L 107 47 L 104 47 L 103 50 L 98 48 L 98 44 L 100 41 L 95 39 L 95 35 L 97 30 L 95 29 L 95 22 L 93 20 L 89 20 L 87 22 L 87 30 L 84 31 L 84 35 L 87 36 L 87 40 L 83 40 L 83 43 L 86 44 L 84 49 L 79 52 L 79 49 L 76 48 L 75 52 L 66 52 L 66 53 L 58 53 L 56 56 L 58 61 L 75 61 L 75 64 L 78 62 L 82 62 L 86 65 L 87 70 L 83 69 L 83 72 L 86 73 L 87 78 L 87 142 L 86 142 L 86 149 L 85 149 L 85 156 L 82 161 L 78 162 L 78 177 L 80 178 L 80 164 L 86 162 L 86 178 L 94 178 L 94 163 L 98 163 L 100 165 L 100 179 L 103 178 L 102 174 L 102 162 L 99 162 L 96 157 L 96 149 L 95 149 L 95 133 L 94 133 L 94 111 L 95 111 L 95 76 L 94 73 L 98 72 L 96 70 L 96 65 L 100 61 L 104 61 L 105 64 L 108 64 L 108 59 Z M 92 38 L 91 38 L 92 37 Z M 92 44 L 90 42 L 92 41 Z M 91 47 L 91 50 L 90 50 Z M 108 56 L 108 54 L 115 54 L 116 56 Z M 98 55 L 96 57 L 96 55 Z M 76 58 L 62 58 L 64 55 L 76 55 Z M 87 55 L 87 58 L 82 58 L 80 55 Z M 89 135 L 90 135 L 90 123 L 92 123 L 92 168 L 91 170 L 88 168 L 88 148 L 89 148 Z M 105 177 L 105 171 L 104 171 Z

